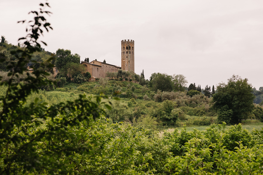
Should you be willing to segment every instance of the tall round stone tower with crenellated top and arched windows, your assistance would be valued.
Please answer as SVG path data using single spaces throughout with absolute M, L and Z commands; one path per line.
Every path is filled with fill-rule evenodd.
M 121 41 L 122 43 L 122 70 L 134 72 L 134 41 Z

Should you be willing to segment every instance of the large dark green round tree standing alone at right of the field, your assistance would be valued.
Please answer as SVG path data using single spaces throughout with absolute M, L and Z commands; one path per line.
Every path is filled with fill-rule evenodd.
M 217 111 L 218 120 L 227 124 L 238 124 L 245 119 L 254 108 L 251 93 L 252 86 L 248 79 L 233 75 L 228 83 L 219 83 L 217 93 L 213 95 L 213 107 Z

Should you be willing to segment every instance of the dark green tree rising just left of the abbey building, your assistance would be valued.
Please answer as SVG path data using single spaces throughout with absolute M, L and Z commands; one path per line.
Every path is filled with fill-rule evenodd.
M 67 63 L 78 63 L 80 62 L 80 56 L 78 54 L 71 54 L 70 50 L 58 49 L 56 51 L 55 65 L 58 70 L 62 69 Z

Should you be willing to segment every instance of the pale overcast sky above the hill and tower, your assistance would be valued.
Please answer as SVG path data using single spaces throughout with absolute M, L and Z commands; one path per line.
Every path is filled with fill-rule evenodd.
M 0 0 L 0 35 L 17 45 L 45 0 Z M 45 50 L 58 48 L 121 66 L 121 40 L 134 40 L 135 73 L 183 74 L 190 83 L 227 83 L 233 74 L 263 86 L 262 0 L 48 0 L 53 30 Z

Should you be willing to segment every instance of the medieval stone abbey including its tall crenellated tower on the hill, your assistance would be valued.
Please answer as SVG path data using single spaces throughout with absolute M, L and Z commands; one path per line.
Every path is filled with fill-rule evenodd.
M 121 67 L 96 60 L 80 64 L 85 66 L 86 71 L 91 74 L 92 78 L 105 78 L 107 72 L 117 72 L 118 69 L 134 72 L 134 41 L 129 41 L 129 39 L 128 41 L 122 40 L 121 45 Z

